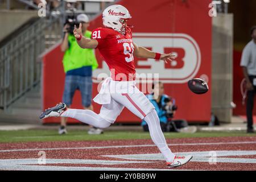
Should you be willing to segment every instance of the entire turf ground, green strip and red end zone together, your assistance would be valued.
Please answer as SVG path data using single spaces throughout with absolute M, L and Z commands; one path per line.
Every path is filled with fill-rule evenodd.
M 173 152 L 194 156 L 178 170 L 256 170 L 256 134 L 164 135 Z M 53 130 L 23 130 L 0 131 L 0 136 L 0 170 L 170 170 L 149 133 L 70 130 L 60 136 Z

